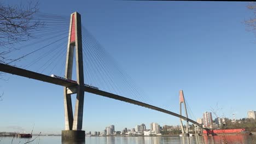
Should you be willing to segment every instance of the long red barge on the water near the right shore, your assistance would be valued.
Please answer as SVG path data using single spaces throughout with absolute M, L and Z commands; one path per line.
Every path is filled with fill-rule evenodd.
M 252 133 L 245 129 L 216 129 L 203 130 L 203 135 L 252 135 Z

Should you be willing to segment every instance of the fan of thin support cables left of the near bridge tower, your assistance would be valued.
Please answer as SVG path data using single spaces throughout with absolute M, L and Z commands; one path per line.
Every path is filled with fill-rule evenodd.
M 13 13 L 22 13 L 26 15 L 26 11 L 14 11 Z M 58 44 L 63 41 L 57 40 L 59 40 L 62 35 L 65 36 L 65 38 L 67 37 L 70 17 L 37 12 L 32 14 L 31 16 L 28 16 L 28 19 L 30 19 L 30 22 L 40 22 L 40 27 L 38 27 L 37 29 L 33 29 L 29 33 L 30 37 L 21 37 L 19 39 L 21 41 L 20 43 L 9 46 L 8 50 L 1 49 L 0 52 L 1 55 L 8 56 L 9 58 L 7 59 L 7 61 L 4 61 L 5 63 L 21 65 L 21 67 L 23 68 L 29 68 L 34 70 L 34 68 L 40 67 L 41 63 L 45 62 L 45 59 L 47 61 L 50 55 L 54 55 L 54 52 L 56 52 L 56 50 L 60 50 L 57 49 L 59 48 Z M 63 40 L 65 38 L 63 38 Z M 57 41 L 57 43 L 55 43 L 55 41 Z M 65 43 L 67 43 L 67 41 L 65 41 Z M 39 47 L 42 46 L 45 47 L 42 50 L 36 51 Z M 63 47 L 63 49 L 66 49 L 66 46 Z M 44 52 L 48 50 L 52 51 L 48 52 L 49 55 L 45 56 Z M 59 55 L 59 53 L 57 53 L 57 55 Z M 42 57 L 42 55 L 44 55 L 45 57 Z M 44 67 L 41 67 L 41 70 L 39 70 L 44 73 L 46 70 L 48 71 L 48 67 L 52 68 L 53 65 L 56 65 L 55 62 L 58 61 L 49 61 L 46 64 L 43 63 Z M 24 63 L 26 64 L 24 65 Z M 51 71 L 54 70 L 51 69 Z

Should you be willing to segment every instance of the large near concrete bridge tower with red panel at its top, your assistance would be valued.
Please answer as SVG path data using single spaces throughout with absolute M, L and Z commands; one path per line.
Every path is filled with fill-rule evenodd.
M 77 87 L 64 88 L 65 130 L 62 130 L 62 141 L 85 140 L 85 131 L 82 130 L 84 108 L 84 71 L 82 51 L 81 15 L 71 14 L 66 59 L 66 79 L 72 80 L 73 58 L 75 50 L 75 67 Z M 77 93 L 73 116 L 71 94 Z

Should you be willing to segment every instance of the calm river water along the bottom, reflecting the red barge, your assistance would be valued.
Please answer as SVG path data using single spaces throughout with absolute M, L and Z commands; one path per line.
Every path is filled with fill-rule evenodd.
M 32 139 L 13 139 L 13 137 L 0 137 L 0 144 L 22 144 Z M 226 141 L 226 142 L 225 142 Z M 51 144 L 61 143 L 61 136 L 40 136 L 30 143 Z M 84 142 L 82 142 L 84 143 Z M 231 135 L 231 136 L 139 136 L 139 137 L 85 137 L 86 144 L 165 144 L 165 143 L 256 143 L 256 135 Z M 62 143 L 69 144 L 69 143 Z M 80 143 L 79 143 L 80 144 Z

